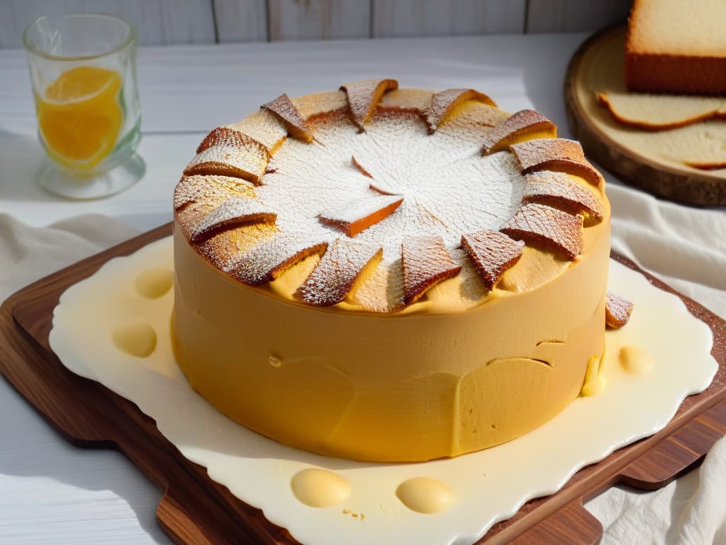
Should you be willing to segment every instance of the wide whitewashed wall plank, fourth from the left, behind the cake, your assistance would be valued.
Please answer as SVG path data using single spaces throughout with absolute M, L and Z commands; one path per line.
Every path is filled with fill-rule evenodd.
M 524 0 L 372 0 L 373 38 L 521 33 Z

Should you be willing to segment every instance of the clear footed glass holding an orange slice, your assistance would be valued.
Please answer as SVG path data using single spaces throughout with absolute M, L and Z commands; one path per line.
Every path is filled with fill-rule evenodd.
M 144 174 L 136 31 L 104 14 L 40 17 L 23 33 L 49 161 L 38 182 L 68 198 L 123 191 Z

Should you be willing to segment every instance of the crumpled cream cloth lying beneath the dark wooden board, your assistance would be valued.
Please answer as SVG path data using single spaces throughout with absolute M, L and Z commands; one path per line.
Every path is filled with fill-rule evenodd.
M 613 249 L 726 316 L 726 212 L 658 201 L 611 184 Z M 46 228 L 0 214 L 0 300 L 65 265 L 136 235 L 98 215 Z M 659 491 L 615 487 L 586 504 L 603 544 L 726 544 L 726 438 L 703 465 Z

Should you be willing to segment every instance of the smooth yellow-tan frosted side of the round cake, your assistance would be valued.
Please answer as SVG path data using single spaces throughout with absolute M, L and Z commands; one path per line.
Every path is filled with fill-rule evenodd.
M 177 361 L 232 419 L 307 450 L 417 461 L 502 443 L 570 403 L 603 352 L 609 228 L 588 238 L 592 251 L 544 286 L 407 316 L 243 286 L 176 230 Z

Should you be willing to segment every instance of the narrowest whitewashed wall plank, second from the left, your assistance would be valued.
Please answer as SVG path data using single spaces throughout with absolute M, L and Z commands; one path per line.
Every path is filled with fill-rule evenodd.
M 266 0 L 212 0 L 217 41 L 267 41 Z

